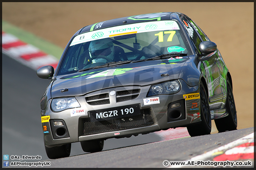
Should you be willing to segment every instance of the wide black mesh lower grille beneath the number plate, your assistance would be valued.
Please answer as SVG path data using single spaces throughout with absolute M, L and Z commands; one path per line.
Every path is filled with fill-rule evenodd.
M 116 130 L 133 129 L 153 125 L 150 109 L 140 110 L 140 115 L 126 118 L 91 122 L 90 118 L 84 118 L 83 135 L 99 134 Z

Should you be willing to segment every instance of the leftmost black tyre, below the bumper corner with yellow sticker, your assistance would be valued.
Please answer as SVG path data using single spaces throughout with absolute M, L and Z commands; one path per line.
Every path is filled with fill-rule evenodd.
M 71 151 L 71 143 L 62 145 L 62 146 L 55 146 L 52 148 L 48 148 L 44 146 L 46 150 L 47 157 L 50 159 L 58 159 L 69 157 Z

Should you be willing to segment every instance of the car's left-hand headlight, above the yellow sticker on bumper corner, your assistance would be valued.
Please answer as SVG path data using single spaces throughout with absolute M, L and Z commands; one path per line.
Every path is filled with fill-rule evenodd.
M 52 100 L 52 110 L 54 112 L 60 112 L 65 109 L 81 107 L 75 97 L 69 98 L 54 98 Z

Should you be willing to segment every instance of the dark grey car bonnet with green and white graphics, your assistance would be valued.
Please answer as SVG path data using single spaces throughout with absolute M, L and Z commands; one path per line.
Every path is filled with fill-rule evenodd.
M 52 84 L 51 95 L 52 98 L 80 96 L 111 87 L 146 86 L 178 79 L 186 60 L 187 58 L 146 61 L 57 76 Z M 169 76 L 161 76 L 161 74 L 169 74 Z

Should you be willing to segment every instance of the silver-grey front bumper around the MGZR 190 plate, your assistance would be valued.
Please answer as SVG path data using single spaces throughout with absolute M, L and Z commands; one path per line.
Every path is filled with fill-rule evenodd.
M 85 114 L 71 116 L 72 109 L 66 109 L 62 112 L 53 112 L 50 109 L 48 101 L 45 110 L 41 110 L 42 118 L 48 117 L 48 121 L 42 122 L 44 131 L 44 143 L 47 147 L 54 147 L 65 143 L 74 143 L 85 140 L 107 139 L 130 137 L 132 135 L 147 134 L 149 132 L 166 130 L 169 128 L 184 127 L 191 123 L 201 121 L 200 99 L 185 100 L 185 94 L 199 93 L 198 86 L 190 87 L 185 81 L 179 80 L 181 90 L 174 95 L 158 95 L 146 97 L 150 89 L 149 86 L 126 86 L 103 89 L 91 92 L 84 96 L 75 96 L 81 105 L 81 109 L 85 109 Z M 135 90 L 134 90 L 135 89 Z M 118 91 L 139 90 L 133 97 L 118 98 Z M 116 91 L 113 96 L 109 95 L 108 101 L 98 102 L 91 100 L 88 96 L 97 96 L 98 94 L 109 94 Z M 125 94 L 124 96 L 127 96 Z M 145 105 L 143 99 L 159 97 L 160 103 Z M 180 103 L 180 106 L 171 108 L 172 104 Z M 196 103 L 196 104 L 195 104 Z M 140 115 L 129 118 L 117 118 L 105 121 L 91 122 L 89 111 L 116 108 L 128 106 L 131 104 L 139 104 Z M 196 107 L 196 108 L 195 108 Z M 63 121 L 64 125 L 54 125 L 53 121 Z

